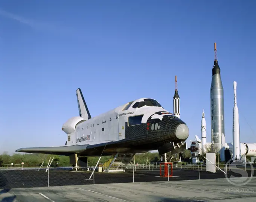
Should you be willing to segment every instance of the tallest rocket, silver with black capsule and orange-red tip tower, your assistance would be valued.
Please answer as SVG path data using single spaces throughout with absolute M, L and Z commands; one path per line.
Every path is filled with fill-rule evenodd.
M 215 59 L 212 68 L 210 87 L 211 138 L 221 161 L 225 161 L 225 130 L 224 130 L 224 92 L 221 81 L 221 69 L 218 65 L 216 43 L 214 43 Z

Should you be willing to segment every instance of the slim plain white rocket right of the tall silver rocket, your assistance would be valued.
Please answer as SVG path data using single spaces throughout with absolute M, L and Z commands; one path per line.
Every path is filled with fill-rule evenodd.
M 239 130 L 239 115 L 236 102 L 236 82 L 233 82 L 234 87 L 234 108 L 233 108 L 233 160 L 240 160 L 240 130 Z

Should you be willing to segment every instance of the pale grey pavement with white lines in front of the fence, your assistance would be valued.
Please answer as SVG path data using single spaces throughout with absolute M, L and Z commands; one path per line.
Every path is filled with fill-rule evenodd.
M 178 177 L 176 177 L 178 178 Z M 243 179 L 237 178 L 236 183 Z M 1 202 L 255 202 L 256 178 L 243 186 L 227 179 L 0 189 Z

